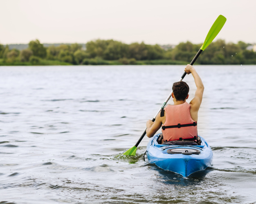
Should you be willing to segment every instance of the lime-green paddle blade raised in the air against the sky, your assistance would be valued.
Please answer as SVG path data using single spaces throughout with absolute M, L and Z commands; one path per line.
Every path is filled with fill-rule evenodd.
M 211 29 L 209 30 L 209 33 L 207 34 L 205 40 L 204 40 L 204 44 L 202 45 L 202 47 L 200 48 L 201 50 L 204 50 L 205 48 L 208 47 L 209 44 L 211 44 L 211 42 L 213 41 L 213 39 L 218 35 L 218 33 L 220 32 L 220 30 L 222 29 L 222 27 L 224 26 L 225 22 L 226 22 L 227 18 L 225 18 L 224 16 L 220 15 L 216 21 L 213 23 Z

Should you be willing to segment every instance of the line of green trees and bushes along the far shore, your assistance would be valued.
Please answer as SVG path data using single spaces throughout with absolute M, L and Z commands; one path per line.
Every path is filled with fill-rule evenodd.
M 247 50 L 245 42 L 212 42 L 198 58 L 197 64 L 256 64 L 256 52 Z M 94 40 L 81 44 L 44 47 L 39 40 L 29 42 L 27 49 L 9 49 L 0 44 L 0 65 L 50 64 L 187 64 L 202 44 L 181 42 L 174 48 L 141 43 L 125 44 L 115 40 Z

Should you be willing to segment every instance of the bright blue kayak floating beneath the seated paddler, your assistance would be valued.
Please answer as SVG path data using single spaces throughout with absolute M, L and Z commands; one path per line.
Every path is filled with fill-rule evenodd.
M 200 145 L 158 144 L 159 137 L 157 134 L 148 142 L 146 154 L 149 163 L 184 177 L 211 166 L 213 153 L 202 137 Z

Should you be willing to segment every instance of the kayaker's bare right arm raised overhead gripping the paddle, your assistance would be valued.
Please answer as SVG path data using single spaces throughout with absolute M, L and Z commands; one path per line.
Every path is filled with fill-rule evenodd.
M 185 67 L 184 70 L 187 74 L 192 74 L 193 78 L 195 80 L 195 86 L 196 86 L 196 91 L 195 91 L 195 97 L 191 100 L 189 103 L 190 106 L 190 115 L 191 118 L 195 121 L 198 120 L 198 110 L 200 108 L 200 105 L 202 103 L 202 98 L 203 98 L 203 93 L 204 93 L 204 84 L 198 75 L 198 73 L 195 71 L 195 68 L 188 64 Z

